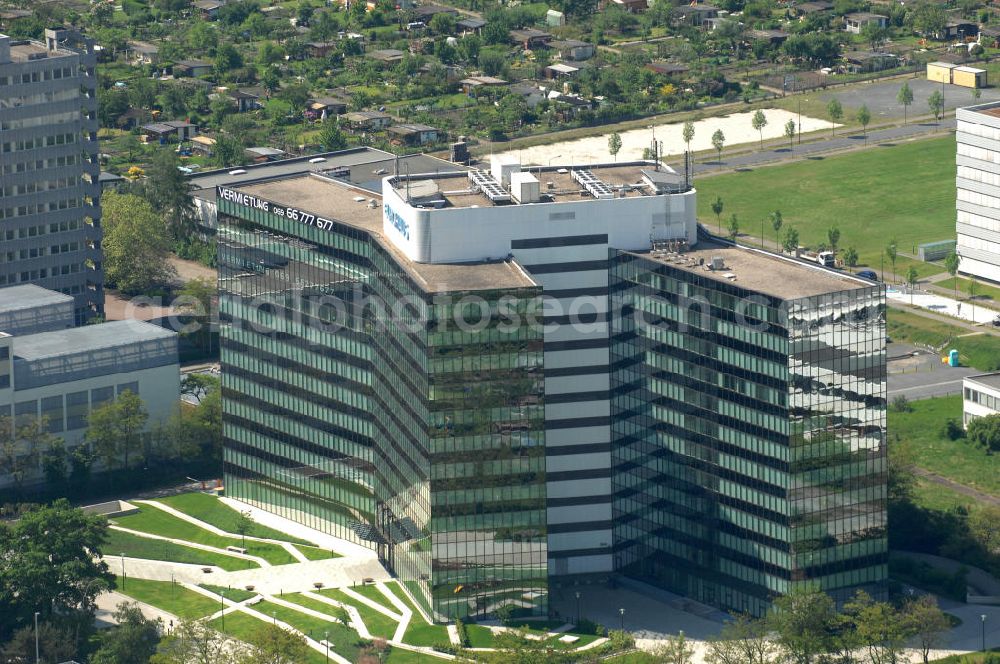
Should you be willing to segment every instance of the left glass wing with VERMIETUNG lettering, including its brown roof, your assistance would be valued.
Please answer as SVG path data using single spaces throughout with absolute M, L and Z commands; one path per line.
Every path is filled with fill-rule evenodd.
M 218 206 L 227 494 L 375 549 L 437 618 L 546 613 L 540 288 L 408 261 L 321 176 Z

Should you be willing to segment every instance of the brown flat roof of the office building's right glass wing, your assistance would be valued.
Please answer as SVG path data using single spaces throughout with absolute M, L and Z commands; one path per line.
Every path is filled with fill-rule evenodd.
M 691 250 L 680 254 L 653 251 L 627 253 L 782 300 L 797 300 L 875 286 L 867 279 L 846 272 L 826 269 L 760 249 L 734 246 L 718 239 L 700 241 Z M 724 269 L 708 268 L 715 257 L 723 259 Z

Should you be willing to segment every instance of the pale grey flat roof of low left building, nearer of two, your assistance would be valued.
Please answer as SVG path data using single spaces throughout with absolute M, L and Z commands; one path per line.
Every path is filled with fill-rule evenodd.
M 118 320 L 15 337 L 14 356 L 22 360 L 41 360 L 176 336 L 176 332 L 159 325 L 140 320 Z

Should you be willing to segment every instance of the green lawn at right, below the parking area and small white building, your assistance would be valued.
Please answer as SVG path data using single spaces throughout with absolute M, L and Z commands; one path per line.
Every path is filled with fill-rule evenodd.
M 910 403 L 912 412 L 890 409 L 889 435 L 909 444 L 913 461 L 938 475 L 1000 496 L 1000 455 L 987 455 L 965 439 L 949 440 L 943 432 L 945 421 L 962 421 L 962 397 L 953 395 Z

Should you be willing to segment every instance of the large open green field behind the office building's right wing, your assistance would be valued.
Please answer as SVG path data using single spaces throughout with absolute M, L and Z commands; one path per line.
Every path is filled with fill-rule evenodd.
M 744 232 L 759 235 L 761 219 L 776 208 L 800 243 L 826 242 L 840 229 L 839 246 L 855 247 L 862 263 L 878 268 L 890 238 L 911 253 L 921 242 L 955 236 L 955 139 L 933 138 L 817 160 L 761 167 L 753 171 L 701 177 L 698 217 L 714 227 L 711 205 L 722 198 L 723 222 L 736 214 Z M 765 222 L 768 247 L 774 230 Z M 917 263 L 920 276 L 943 269 Z M 908 261 L 896 263 L 905 274 Z M 889 261 L 885 269 L 889 271 Z

